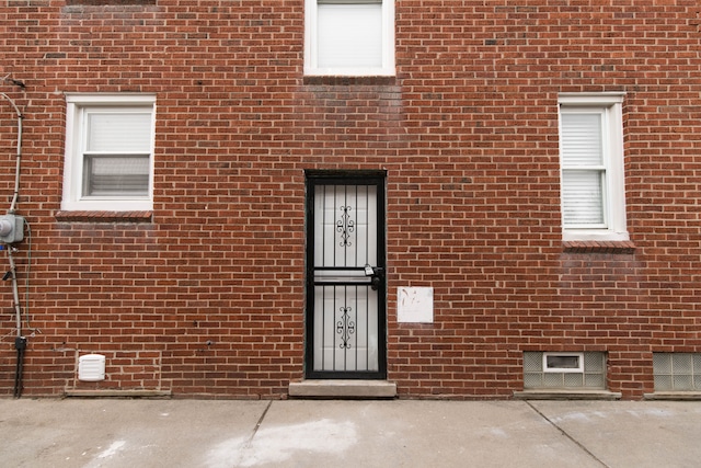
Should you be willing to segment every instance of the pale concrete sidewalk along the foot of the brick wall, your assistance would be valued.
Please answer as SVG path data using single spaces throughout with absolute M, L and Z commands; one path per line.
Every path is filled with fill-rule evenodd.
M 697 467 L 701 402 L 0 399 L 3 467 Z

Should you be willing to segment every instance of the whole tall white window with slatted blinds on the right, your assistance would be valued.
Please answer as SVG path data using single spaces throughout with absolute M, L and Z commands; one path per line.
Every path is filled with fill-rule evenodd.
M 623 94 L 561 94 L 563 240 L 625 241 Z

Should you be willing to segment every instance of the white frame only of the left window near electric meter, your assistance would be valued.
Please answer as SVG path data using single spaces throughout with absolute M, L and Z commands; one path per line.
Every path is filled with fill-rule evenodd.
M 153 208 L 153 141 L 156 95 L 153 94 L 67 94 L 66 155 L 64 164 L 62 210 L 146 212 Z M 89 110 L 139 110 L 151 113 L 149 148 L 149 190 L 145 196 L 83 196 L 85 113 Z

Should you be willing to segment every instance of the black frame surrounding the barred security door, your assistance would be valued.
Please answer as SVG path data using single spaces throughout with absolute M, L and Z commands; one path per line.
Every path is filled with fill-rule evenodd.
M 307 306 L 304 313 L 304 377 L 313 379 L 386 379 L 387 378 L 387 282 L 380 275 L 378 292 L 378 370 L 338 372 L 314 370 L 314 194 L 318 185 L 376 185 L 377 186 L 377 266 L 387 271 L 386 232 L 386 171 L 306 171 L 306 289 Z

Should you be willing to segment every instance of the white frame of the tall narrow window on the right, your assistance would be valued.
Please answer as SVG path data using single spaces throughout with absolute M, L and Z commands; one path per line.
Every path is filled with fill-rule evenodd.
M 601 148 L 604 167 L 604 222 L 590 227 L 567 226 L 564 219 L 564 190 L 561 189 L 562 237 L 564 241 L 628 241 L 625 219 L 625 185 L 623 170 L 624 93 L 562 93 L 559 95 L 560 141 L 563 141 L 563 113 L 599 113 L 601 115 Z M 564 183 L 564 161 L 561 146 L 560 181 Z

